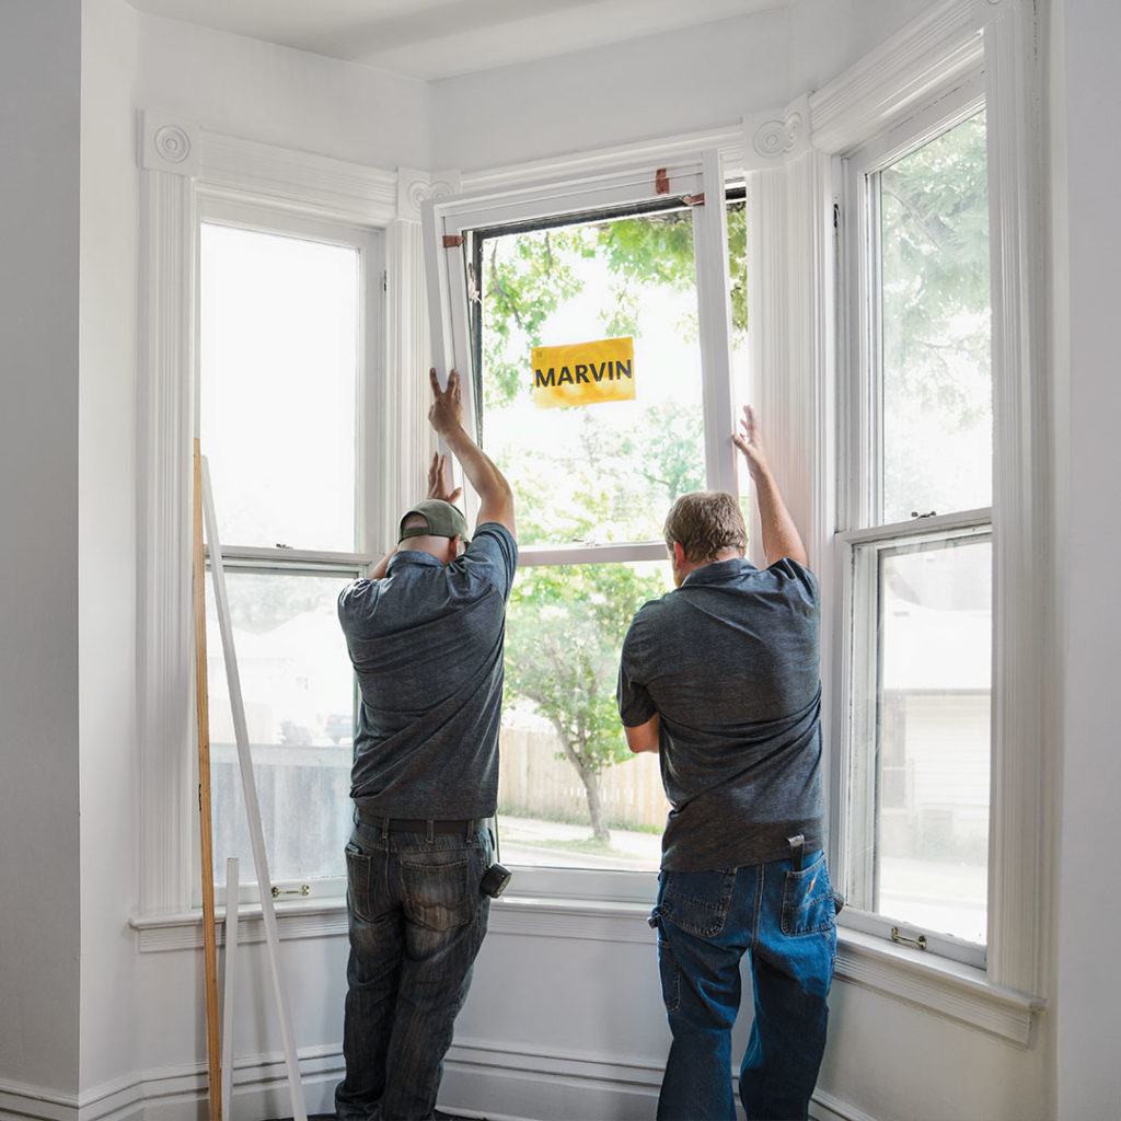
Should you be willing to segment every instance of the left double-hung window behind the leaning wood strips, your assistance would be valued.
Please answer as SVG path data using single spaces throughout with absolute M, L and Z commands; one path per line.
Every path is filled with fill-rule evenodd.
M 373 525 L 362 434 L 380 239 L 204 200 L 198 432 L 213 491 L 270 879 L 339 895 L 354 685 L 335 613 Z M 214 597 L 207 654 L 215 880 L 254 881 Z

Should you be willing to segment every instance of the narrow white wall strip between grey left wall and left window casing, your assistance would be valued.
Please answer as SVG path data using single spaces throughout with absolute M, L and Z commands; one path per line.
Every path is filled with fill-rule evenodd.
M 81 1086 L 132 1062 L 136 904 L 137 175 L 135 13 L 82 3 L 78 702 Z

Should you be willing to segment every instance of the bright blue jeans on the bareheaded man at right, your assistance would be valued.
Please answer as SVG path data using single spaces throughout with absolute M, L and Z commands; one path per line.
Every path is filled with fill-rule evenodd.
M 740 1066 L 749 1121 L 804 1121 L 825 1050 L 836 909 L 825 854 L 715 872 L 663 872 L 661 994 L 674 1041 L 658 1121 L 735 1118 L 732 1025 L 749 955 L 754 1023 Z

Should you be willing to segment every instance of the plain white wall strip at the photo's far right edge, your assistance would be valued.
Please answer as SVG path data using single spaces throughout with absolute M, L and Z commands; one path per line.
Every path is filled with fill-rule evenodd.
M 1065 20 L 1065 28 L 1062 21 Z M 1058 1115 L 1117 1117 L 1121 1102 L 1118 1015 L 1121 983 L 1110 962 L 1121 895 L 1108 884 L 1121 790 L 1117 675 L 1121 666 L 1121 586 L 1114 576 L 1121 525 L 1113 491 L 1121 479 L 1118 307 L 1121 284 L 1121 82 L 1113 45 L 1117 4 L 1057 4 L 1056 147 L 1066 146 L 1065 197 L 1055 238 L 1059 373 L 1068 389 L 1059 433 L 1060 580 L 1064 593 L 1063 831 L 1058 873 Z M 1065 35 L 1065 40 L 1063 36 Z M 1063 345 L 1065 344 L 1065 346 Z M 1064 349 L 1068 348 L 1068 364 Z

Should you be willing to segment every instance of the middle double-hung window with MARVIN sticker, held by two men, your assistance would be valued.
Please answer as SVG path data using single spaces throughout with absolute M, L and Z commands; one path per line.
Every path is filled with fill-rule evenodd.
M 742 194 L 712 154 L 434 206 L 437 353 L 464 373 L 469 420 L 516 495 L 500 840 L 535 883 L 556 868 L 658 867 L 668 806 L 656 757 L 626 747 L 619 650 L 671 587 L 674 499 L 736 487 Z M 623 350 L 582 356 L 601 342 Z M 565 388 L 575 404 L 556 404 Z M 636 882 L 646 893 L 649 877 Z

